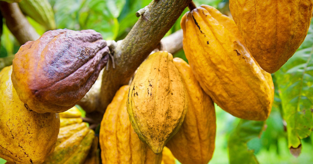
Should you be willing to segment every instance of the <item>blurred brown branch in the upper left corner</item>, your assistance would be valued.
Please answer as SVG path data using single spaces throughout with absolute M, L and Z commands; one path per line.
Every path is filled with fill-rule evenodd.
M 6 24 L 20 44 L 37 40 L 40 36 L 23 15 L 18 3 L 0 1 L 0 10 Z

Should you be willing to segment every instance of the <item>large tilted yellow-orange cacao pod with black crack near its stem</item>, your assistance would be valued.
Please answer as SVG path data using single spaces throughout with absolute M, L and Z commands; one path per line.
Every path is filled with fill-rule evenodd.
M 181 20 L 183 48 L 196 79 L 218 106 L 235 117 L 266 120 L 274 84 L 244 46 L 235 23 L 201 5 Z

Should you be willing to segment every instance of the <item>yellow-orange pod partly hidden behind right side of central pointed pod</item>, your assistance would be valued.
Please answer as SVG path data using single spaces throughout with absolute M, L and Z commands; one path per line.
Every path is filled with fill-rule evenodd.
M 215 147 L 214 104 L 200 87 L 187 62 L 181 58 L 174 58 L 173 62 L 187 91 L 188 111 L 182 127 L 166 146 L 182 164 L 207 164 Z

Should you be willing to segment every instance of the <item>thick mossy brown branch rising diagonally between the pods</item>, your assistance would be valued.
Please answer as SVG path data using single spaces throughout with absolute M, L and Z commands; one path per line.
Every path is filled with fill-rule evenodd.
M 117 42 L 114 50 L 115 69 L 105 71 L 102 77 L 101 112 L 111 102 L 115 92 L 128 83 L 130 77 L 149 53 L 172 27 L 191 0 L 153 0 L 145 7 L 135 26 L 125 39 Z

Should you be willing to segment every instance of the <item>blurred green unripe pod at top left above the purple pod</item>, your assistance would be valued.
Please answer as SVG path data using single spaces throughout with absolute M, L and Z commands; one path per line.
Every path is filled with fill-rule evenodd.
M 54 12 L 48 0 L 23 0 L 18 3 L 23 13 L 43 25 L 47 30 L 54 30 Z

